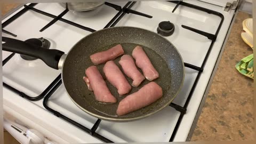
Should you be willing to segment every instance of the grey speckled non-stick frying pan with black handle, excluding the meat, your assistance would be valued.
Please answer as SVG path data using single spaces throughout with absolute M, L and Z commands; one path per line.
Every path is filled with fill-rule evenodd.
M 5 42 L 3 44 L 4 51 L 36 57 L 54 69 L 62 69 L 62 83 L 70 99 L 86 113 L 106 121 L 129 122 L 153 115 L 170 105 L 183 84 L 184 65 L 178 50 L 164 37 L 141 28 L 113 27 L 95 31 L 77 42 L 68 54 L 54 49 L 42 49 L 17 39 L 3 37 L 2 40 Z M 106 81 L 110 92 L 117 98 L 117 103 L 114 104 L 100 103 L 95 100 L 93 92 L 87 89 L 83 81 L 85 69 L 93 65 L 90 55 L 105 51 L 117 44 L 123 46 L 125 54 L 131 54 L 137 45 L 142 46 L 159 73 L 159 78 L 154 81 L 163 89 L 161 99 L 123 116 L 116 115 L 119 101 L 125 98 L 126 95 L 138 91 L 149 81 L 143 81 L 140 86 L 133 87 L 130 93 L 122 97 L 119 97 L 115 87 Z M 118 67 L 120 67 L 119 59 L 120 57 L 115 60 Z M 105 78 L 102 71 L 103 64 L 97 65 L 97 67 Z M 126 78 L 131 84 L 132 80 Z

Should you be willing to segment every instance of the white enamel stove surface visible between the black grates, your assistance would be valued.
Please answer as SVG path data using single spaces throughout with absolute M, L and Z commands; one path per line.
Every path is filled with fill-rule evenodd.
M 113 3 L 120 6 L 126 4 L 126 2 Z M 216 5 L 196 1 L 187 1 L 187 3 L 221 12 L 225 16 L 225 21 L 214 43 L 209 60 L 206 63 L 205 69 L 188 105 L 187 114 L 183 117 L 174 141 L 186 141 L 191 124 L 194 121 L 197 109 L 234 15 L 234 11 L 225 12 L 222 7 Z M 213 14 L 207 14 L 182 5 L 172 13 L 171 11 L 174 7 L 175 4 L 169 2 L 137 2 L 132 9 L 152 15 L 153 18 L 149 19 L 139 15 L 126 14 L 116 26 L 133 26 L 156 31 L 159 22 L 173 22 L 175 25 L 174 34 L 166 38 L 177 47 L 184 62 L 201 67 L 205 54 L 211 44 L 211 40 L 187 29 L 183 29 L 181 25 L 215 34 L 221 19 Z M 35 8 L 54 15 L 58 15 L 65 10 L 56 3 L 41 3 L 37 4 Z M 99 30 L 105 27 L 116 13 L 117 11 L 113 8 L 104 5 L 101 10 L 89 13 L 69 11 L 63 18 L 85 27 Z M 51 20 L 52 18 L 30 10 L 4 29 L 18 35 L 16 38 L 23 41 L 29 38 L 44 37 L 50 40 L 50 49 L 59 49 L 65 53 L 81 38 L 91 33 L 62 21 L 57 21 L 42 33 L 39 32 L 39 30 Z M 2 34 L 2 36 L 11 37 L 6 34 Z M 3 51 L 3 59 L 9 54 L 9 52 Z M 188 94 L 198 74 L 196 70 L 190 68 L 185 68 L 185 71 L 183 87 L 177 95 L 177 98 L 173 101 L 180 106 L 185 105 Z M 25 61 L 21 59 L 19 54 L 15 54 L 3 67 L 3 82 L 28 95 L 36 96 L 42 93 L 60 73 L 61 70 L 49 68 L 41 60 Z M 43 133 L 48 138 L 55 138 L 49 134 L 49 132 L 51 132 L 70 143 L 101 142 L 45 110 L 43 100 L 31 102 L 5 88 L 3 92 L 5 111 L 10 112 L 13 110 L 10 112 L 13 113 L 13 115 L 21 117 L 19 116 L 19 114 L 21 114 L 22 117 L 27 117 L 31 121 L 36 122 L 39 126 L 35 128 L 46 129 L 47 132 L 43 131 Z M 61 114 L 89 129 L 91 129 L 93 124 L 97 121 L 97 118 L 87 115 L 69 99 L 63 85 L 53 93 L 48 104 L 52 109 L 59 111 Z M 15 111 L 19 114 L 14 114 Z M 166 107 L 153 116 L 135 122 L 113 123 L 101 121 L 96 132 L 114 142 L 167 142 L 170 140 L 179 116 L 179 111 L 172 107 Z

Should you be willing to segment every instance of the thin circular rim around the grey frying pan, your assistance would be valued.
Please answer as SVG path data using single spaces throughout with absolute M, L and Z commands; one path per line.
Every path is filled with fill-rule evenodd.
M 147 29 L 143 29 L 143 28 L 139 28 L 139 27 L 131 27 L 131 26 L 118 26 L 118 27 L 110 27 L 110 28 L 105 28 L 105 29 L 123 28 L 123 27 L 142 29 L 142 30 L 149 31 L 150 33 L 157 34 L 157 33 L 155 33 L 154 31 L 151 31 L 151 30 L 147 30 Z M 75 45 L 73 45 L 73 46 L 71 47 L 71 49 L 68 51 L 67 57 L 68 57 L 69 52 L 70 52 L 71 50 L 73 50 L 73 48 L 74 48 L 79 42 L 83 41 L 84 38 L 86 38 L 86 37 L 88 37 L 88 36 L 90 36 L 90 35 L 92 35 L 92 34 L 95 34 L 95 33 L 99 32 L 99 31 L 105 30 L 105 29 L 100 29 L 100 30 L 94 31 L 93 33 L 91 33 L 91 34 L 89 34 L 89 35 L 87 35 L 87 36 L 81 38 L 81 39 L 80 39 Z M 160 36 L 160 37 L 162 37 L 162 38 L 164 38 L 165 41 L 171 43 L 167 38 L 165 38 L 165 37 L 163 37 L 163 36 L 161 36 L 161 35 L 159 35 L 159 34 L 157 34 L 157 35 Z M 172 44 L 172 43 L 171 43 L 171 44 Z M 181 62 L 182 62 L 182 68 L 183 68 L 183 71 L 182 71 L 182 73 L 183 73 L 182 82 L 181 82 L 181 84 L 180 84 L 180 86 L 179 86 L 178 91 L 174 94 L 174 97 L 173 97 L 169 102 L 167 102 L 166 105 L 162 106 L 161 108 L 159 108 L 159 109 L 157 109 L 157 110 L 155 110 L 155 111 L 153 111 L 153 112 L 151 112 L 151 113 L 149 113 L 149 114 L 147 114 L 147 115 L 142 115 L 142 116 L 133 117 L 133 118 L 110 118 L 110 117 L 106 117 L 106 116 L 101 116 L 101 115 L 94 114 L 94 113 L 92 113 L 91 111 L 86 110 L 86 109 L 83 108 L 82 106 L 78 105 L 78 103 L 76 103 L 75 100 L 74 100 L 74 99 L 70 96 L 70 94 L 68 93 L 68 91 L 67 91 L 67 89 L 66 89 L 66 86 L 65 86 L 65 82 L 63 82 L 63 68 L 65 67 L 66 59 L 64 60 L 63 66 L 62 66 L 62 69 L 61 69 L 61 81 L 62 81 L 62 83 L 63 83 L 63 85 L 64 85 L 65 92 L 68 94 L 68 97 L 71 99 L 71 101 L 73 101 L 73 102 L 75 103 L 75 105 L 76 105 L 78 108 L 82 109 L 82 110 L 85 111 L 87 114 L 89 114 L 89 115 L 91 115 L 91 116 L 93 116 L 93 117 L 97 117 L 97 118 L 100 118 L 100 119 L 105 120 L 105 121 L 110 121 L 110 122 L 131 122 L 131 121 L 136 121 L 136 120 L 139 120 L 139 119 L 142 119 L 142 118 L 146 118 L 146 117 L 148 117 L 148 116 L 150 116 L 150 115 L 154 115 L 154 114 L 156 114 L 158 111 L 161 111 L 161 110 L 163 110 L 165 107 L 167 107 L 168 105 L 170 105 L 170 103 L 177 97 L 177 95 L 178 95 L 178 93 L 180 92 L 181 87 L 182 87 L 182 85 L 183 85 L 184 79 L 185 79 L 185 65 L 184 65 L 183 59 L 182 59 L 181 54 L 180 54 L 180 52 L 178 51 L 178 49 L 177 49 L 173 44 L 172 44 L 172 46 L 174 47 L 174 49 L 175 49 L 175 50 L 177 51 L 177 53 L 179 54 L 179 57 L 180 57 Z

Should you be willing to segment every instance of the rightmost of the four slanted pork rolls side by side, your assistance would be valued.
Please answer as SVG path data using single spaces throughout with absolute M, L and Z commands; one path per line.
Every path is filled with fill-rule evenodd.
M 143 75 L 149 80 L 153 81 L 159 77 L 157 70 L 152 65 L 147 54 L 141 46 L 136 46 L 132 51 L 132 57 L 135 59 L 136 65 L 142 70 Z

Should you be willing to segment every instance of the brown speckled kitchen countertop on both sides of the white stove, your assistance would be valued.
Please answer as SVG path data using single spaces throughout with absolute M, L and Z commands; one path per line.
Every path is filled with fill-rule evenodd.
M 17 5 L 2 5 L 2 14 Z M 246 18 L 252 15 L 237 15 L 191 141 L 253 140 L 253 80 L 235 69 L 253 53 L 240 36 Z

